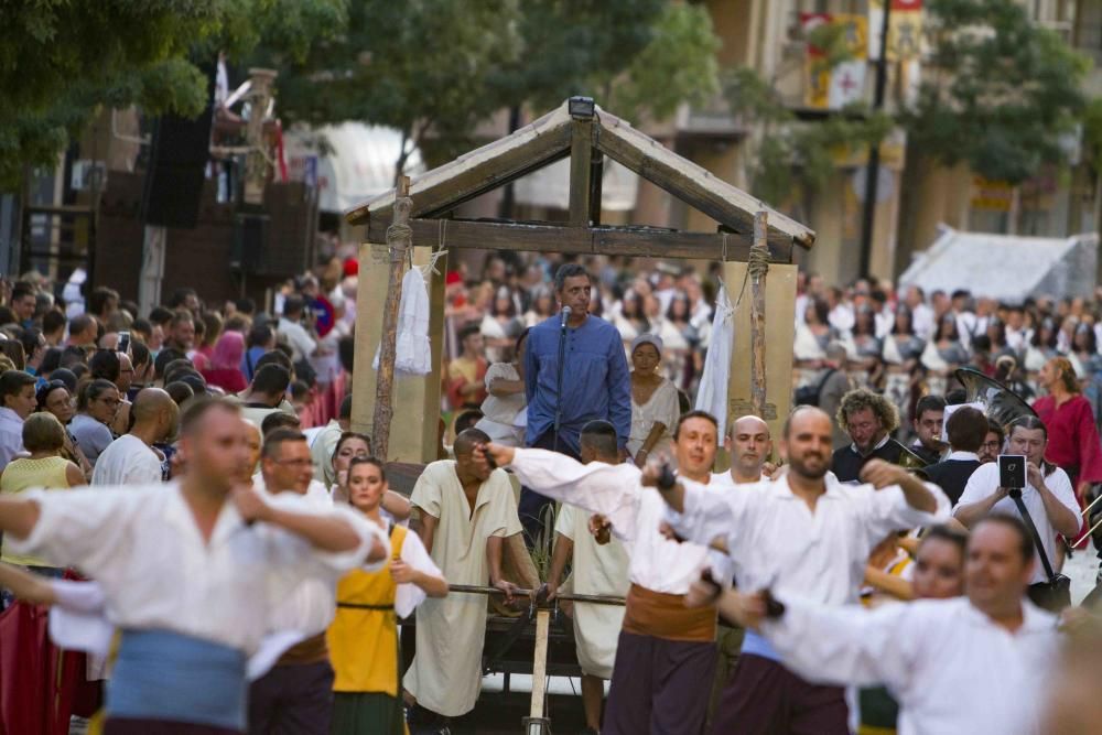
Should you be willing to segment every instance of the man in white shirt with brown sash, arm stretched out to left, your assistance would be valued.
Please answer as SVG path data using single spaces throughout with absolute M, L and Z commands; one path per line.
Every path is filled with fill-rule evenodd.
M 712 415 L 690 411 L 678 422 L 673 441 L 679 475 L 723 496 L 736 490 L 730 476 L 711 474 L 717 433 Z M 508 465 L 527 487 L 603 516 L 595 519 L 597 523 L 611 525 L 627 549 L 631 584 L 602 732 L 701 732 L 715 670 L 715 607 L 689 608 L 684 595 L 705 569 L 717 568 L 712 571 L 714 579 L 730 580 L 726 559 L 704 545 L 678 543 L 661 533 L 665 506 L 639 485 L 634 464 L 583 465 L 547 450 L 498 444 L 487 444 L 484 451 L 496 464 Z

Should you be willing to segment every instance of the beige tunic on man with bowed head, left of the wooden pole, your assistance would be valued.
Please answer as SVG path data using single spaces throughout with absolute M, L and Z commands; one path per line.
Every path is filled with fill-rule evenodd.
M 487 584 L 486 540 L 520 533 L 512 484 L 495 469 L 471 511 L 455 462 L 433 462 L 418 478 L 410 501 L 440 519 L 432 561 L 452 584 Z M 417 655 L 403 684 L 418 703 L 457 717 L 474 709 L 482 689 L 482 651 L 486 636 L 486 597 L 450 593 L 426 599 L 417 610 Z

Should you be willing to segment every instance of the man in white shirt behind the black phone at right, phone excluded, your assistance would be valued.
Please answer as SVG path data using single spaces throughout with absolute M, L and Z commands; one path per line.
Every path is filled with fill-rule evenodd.
M 1048 430 L 1040 419 L 1022 417 L 1007 426 L 1007 432 L 1008 453 L 1026 457 L 1026 486 L 1022 489 L 1019 501 L 1037 528 L 1048 565 L 1056 571 L 1056 536 L 1059 533 L 1073 539 L 1079 533 L 1080 516 L 1076 493 L 1067 473 L 1045 462 Z M 1000 486 L 997 462 L 981 465 L 972 473 L 964 486 L 964 494 L 953 509 L 953 516 L 971 528 L 992 511 L 1022 517 L 1008 488 Z M 1040 553 L 1041 550 L 1037 550 L 1037 563 L 1033 566 L 1029 587 L 1030 598 L 1038 604 L 1044 602 L 1047 583 L 1050 581 Z

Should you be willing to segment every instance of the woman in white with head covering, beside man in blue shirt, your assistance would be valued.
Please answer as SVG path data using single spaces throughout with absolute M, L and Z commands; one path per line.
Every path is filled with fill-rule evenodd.
M 631 435 L 627 451 L 641 467 L 647 457 L 669 453 L 680 415 L 678 389 L 658 372 L 662 339 L 640 334 L 631 342 Z

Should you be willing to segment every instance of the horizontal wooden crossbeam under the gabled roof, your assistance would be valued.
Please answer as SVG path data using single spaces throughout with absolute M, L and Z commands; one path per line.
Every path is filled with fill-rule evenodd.
M 469 219 L 411 219 L 418 247 L 599 253 L 639 258 L 746 261 L 750 241 L 743 235 L 678 233 L 656 228 L 565 227 L 561 225 Z M 387 228 L 371 221 L 369 242 L 386 241 Z M 791 262 L 792 246 L 769 244 L 774 262 Z

